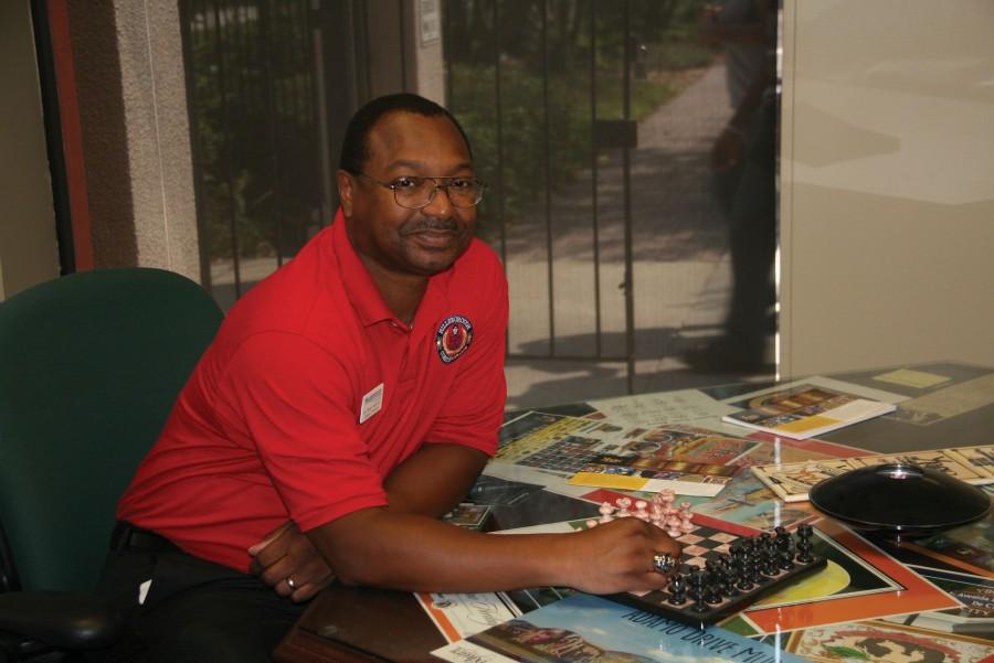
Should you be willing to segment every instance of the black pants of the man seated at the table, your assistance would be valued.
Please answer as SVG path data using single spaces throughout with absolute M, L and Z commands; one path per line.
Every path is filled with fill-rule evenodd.
M 139 603 L 139 587 L 149 579 Z M 125 614 L 128 631 L 94 661 L 268 662 L 304 610 L 254 576 L 128 526 L 115 530 L 99 591 Z

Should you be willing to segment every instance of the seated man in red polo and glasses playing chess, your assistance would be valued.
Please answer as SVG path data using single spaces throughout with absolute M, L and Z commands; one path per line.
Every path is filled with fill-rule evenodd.
M 104 588 L 135 655 L 268 660 L 332 570 L 426 591 L 664 587 L 654 556 L 679 547 L 636 518 L 544 536 L 436 520 L 504 409 L 483 184 L 456 120 L 404 94 L 352 118 L 338 186 L 334 224 L 231 310 L 121 498 Z

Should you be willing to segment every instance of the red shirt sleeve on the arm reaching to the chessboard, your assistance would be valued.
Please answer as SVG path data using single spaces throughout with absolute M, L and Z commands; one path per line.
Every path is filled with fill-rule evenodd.
M 347 370 L 307 339 L 265 332 L 231 359 L 222 389 L 302 531 L 387 504 L 382 478 L 353 424 Z

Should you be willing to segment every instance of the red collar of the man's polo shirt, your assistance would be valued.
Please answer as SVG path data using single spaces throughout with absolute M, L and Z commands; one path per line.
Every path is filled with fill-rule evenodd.
M 346 232 L 345 215 L 341 207 L 335 214 L 331 228 L 332 250 L 338 259 L 341 270 L 341 282 L 345 286 L 346 296 L 359 316 L 363 327 L 383 321 L 396 321 L 396 316 L 383 301 L 379 288 L 373 282 L 369 270 L 362 264 L 362 258 L 352 246 Z M 456 260 L 458 263 L 458 260 Z M 429 279 L 424 297 L 414 314 L 414 329 L 425 331 L 434 324 L 448 307 L 448 281 L 452 278 L 454 267 L 436 274 Z

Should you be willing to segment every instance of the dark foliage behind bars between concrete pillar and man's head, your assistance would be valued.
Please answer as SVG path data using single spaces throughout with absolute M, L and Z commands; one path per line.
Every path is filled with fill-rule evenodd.
M 308 2 L 184 6 L 205 253 L 292 256 L 320 208 Z

